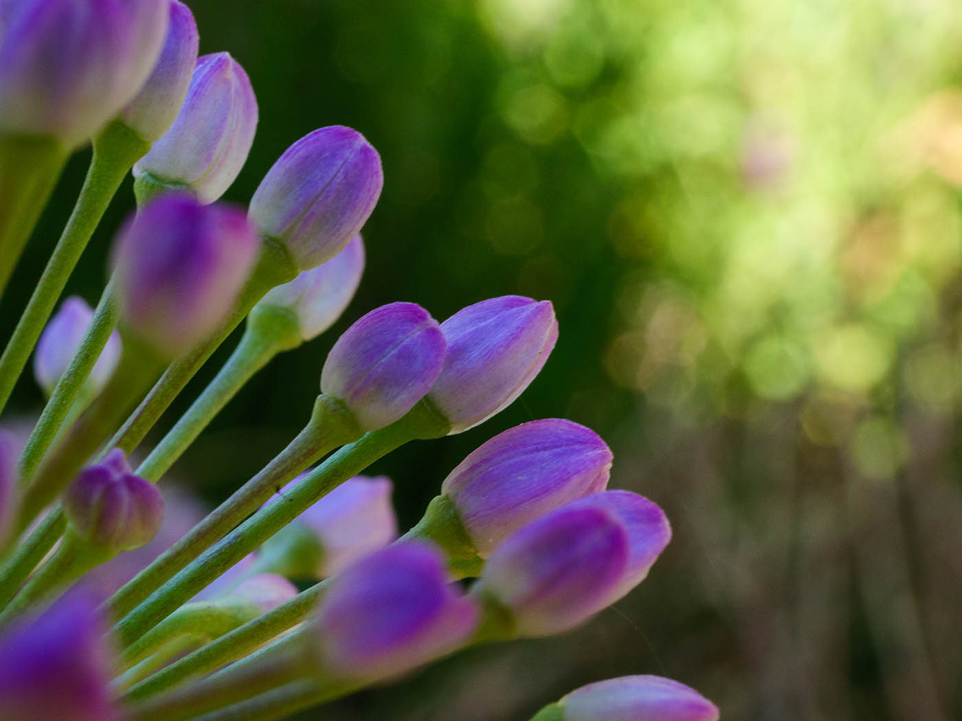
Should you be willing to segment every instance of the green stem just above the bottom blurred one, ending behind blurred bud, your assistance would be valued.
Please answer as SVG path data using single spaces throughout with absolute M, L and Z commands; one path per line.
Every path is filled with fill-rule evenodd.
M 266 643 L 278 634 L 283 634 L 310 615 L 327 587 L 327 580 L 312 585 L 296 596 L 267 611 L 253 621 L 229 634 L 224 634 L 190 656 L 178 659 L 144 681 L 131 686 L 124 696 L 125 701 L 138 701 L 160 693 L 188 679 L 203 676 L 208 671 L 241 659 L 249 651 Z

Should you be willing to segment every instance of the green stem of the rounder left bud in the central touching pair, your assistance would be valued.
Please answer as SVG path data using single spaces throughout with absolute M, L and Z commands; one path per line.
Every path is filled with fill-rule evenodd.
M 311 420 L 291 440 L 288 447 L 267 463 L 254 478 L 241 485 L 230 498 L 208 513 L 190 530 L 188 535 L 180 538 L 114 593 L 107 602 L 111 612 L 114 616 L 120 617 L 134 609 L 158 586 L 187 566 L 191 560 L 200 556 L 215 541 L 237 527 L 244 518 L 258 510 L 278 488 L 286 485 L 317 459 L 359 435 L 361 432 L 357 429 L 353 417 L 345 415 L 339 402 L 332 401 L 326 396 L 318 396 Z M 219 573 L 215 574 L 217 575 Z M 211 580 L 213 578 L 212 576 Z M 204 585 L 207 584 L 203 584 L 197 590 L 199 591 Z M 186 601 L 194 593 L 183 600 Z M 180 606 L 180 603 L 177 606 Z M 147 631 L 148 628 L 144 628 L 143 631 Z

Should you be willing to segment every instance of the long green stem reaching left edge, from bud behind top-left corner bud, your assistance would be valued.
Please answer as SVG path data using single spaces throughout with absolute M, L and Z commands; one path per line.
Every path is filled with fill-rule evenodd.
M 93 138 L 93 158 L 80 197 L 0 357 L 0 411 L 7 404 L 16 379 L 27 364 L 70 273 L 80 260 L 114 193 L 127 171 L 149 149 L 150 143 L 141 140 L 117 121 L 110 123 L 99 136 Z

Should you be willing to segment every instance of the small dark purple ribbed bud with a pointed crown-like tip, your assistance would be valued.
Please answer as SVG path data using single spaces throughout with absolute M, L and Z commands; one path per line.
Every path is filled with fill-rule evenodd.
M 76 535 L 116 553 L 139 548 L 157 535 L 164 497 L 156 485 L 135 476 L 123 451 L 114 448 L 67 487 L 63 510 Z

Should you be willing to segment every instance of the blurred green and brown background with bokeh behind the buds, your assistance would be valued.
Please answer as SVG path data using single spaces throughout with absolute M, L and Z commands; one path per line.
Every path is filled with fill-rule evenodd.
M 730 719 L 962 719 L 962 6 L 956 0 L 192 0 L 258 135 L 227 198 L 316 127 L 378 148 L 367 271 L 342 322 L 275 360 L 174 475 L 215 500 L 306 421 L 338 333 L 548 298 L 558 346 L 510 409 L 401 449 L 402 525 L 494 433 L 565 416 L 674 539 L 615 609 L 305 719 L 524 721 L 654 673 Z M 13 329 L 89 160 L 4 298 Z M 108 214 L 69 290 L 96 301 Z M 213 375 L 228 343 L 178 406 Z M 15 410 L 36 412 L 29 379 Z M 154 439 L 157 435 L 154 436 Z

